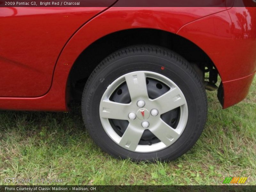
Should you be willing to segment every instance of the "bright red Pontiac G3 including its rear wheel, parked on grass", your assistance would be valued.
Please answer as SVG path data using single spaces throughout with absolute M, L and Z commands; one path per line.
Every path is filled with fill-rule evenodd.
M 218 89 L 223 108 L 246 97 L 256 70 L 256 9 L 233 0 L 115 6 L 122 1 L 0 7 L 0 109 L 68 111 L 78 99 L 103 151 L 172 160 L 204 129 L 205 90 Z

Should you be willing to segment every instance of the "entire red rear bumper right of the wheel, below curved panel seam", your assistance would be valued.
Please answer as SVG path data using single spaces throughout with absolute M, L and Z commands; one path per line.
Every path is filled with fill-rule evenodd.
M 256 8 L 233 7 L 184 25 L 177 32 L 209 56 L 222 80 L 223 108 L 243 100 L 256 70 Z M 223 86 L 223 87 L 222 87 Z

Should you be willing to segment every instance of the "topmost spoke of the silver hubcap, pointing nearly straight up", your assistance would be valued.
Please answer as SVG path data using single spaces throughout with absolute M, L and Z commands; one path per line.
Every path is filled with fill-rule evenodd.
M 129 89 L 131 100 L 137 98 L 148 98 L 145 73 L 142 71 L 125 75 L 125 81 Z

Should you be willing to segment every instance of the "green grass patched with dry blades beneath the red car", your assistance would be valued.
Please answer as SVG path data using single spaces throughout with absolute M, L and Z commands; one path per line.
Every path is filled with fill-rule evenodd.
M 1 111 L 0 185 L 6 177 L 57 178 L 63 185 L 220 185 L 228 176 L 255 185 L 256 78 L 247 98 L 225 110 L 216 92 L 207 94 L 202 136 L 170 163 L 132 163 L 103 153 L 77 106 L 68 114 Z

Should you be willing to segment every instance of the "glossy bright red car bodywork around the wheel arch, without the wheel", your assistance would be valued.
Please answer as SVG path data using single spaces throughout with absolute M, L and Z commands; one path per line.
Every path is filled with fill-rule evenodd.
M 220 75 L 223 108 L 245 98 L 256 70 L 255 7 L 1 7 L 0 26 L 0 109 L 67 111 L 79 55 L 129 29 L 162 30 L 201 48 Z

